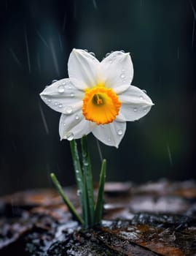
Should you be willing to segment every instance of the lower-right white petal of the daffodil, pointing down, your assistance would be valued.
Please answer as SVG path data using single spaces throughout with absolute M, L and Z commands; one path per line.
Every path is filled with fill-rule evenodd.
M 125 135 L 126 122 L 114 120 L 110 124 L 104 124 L 96 126 L 93 129 L 93 135 L 95 135 L 98 140 L 108 146 L 115 146 L 118 148 L 120 141 Z

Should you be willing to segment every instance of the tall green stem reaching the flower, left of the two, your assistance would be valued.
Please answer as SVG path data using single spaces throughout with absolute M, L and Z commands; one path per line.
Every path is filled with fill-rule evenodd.
M 79 162 L 79 154 L 77 150 L 76 140 L 70 141 L 70 148 L 71 148 L 71 156 L 74 164 L 75 176 L 77 180 L 79 202 L 80 202 L 80 206 L 82 207 L 82 217 L 85 220 L 85 223 L 87 223 L 87 195 L 86 195 L 86 189 L 84 184 L 84 177 L 83 177 L 82 169 Z

